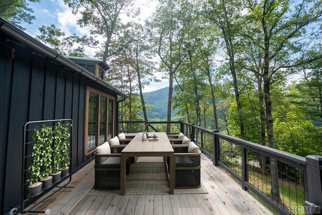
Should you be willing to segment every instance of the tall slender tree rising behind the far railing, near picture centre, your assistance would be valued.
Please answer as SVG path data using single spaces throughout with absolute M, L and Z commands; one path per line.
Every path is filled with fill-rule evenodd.
M 169 77 L 168 122 L 171 121 L 173 78 L 179 66 L 188 56 L 184 42 L 187 29 L 191 24 L 189 19 L 191 16 L 181 11 L 181 4 L 188 3 L 186 1 L 178 3 L 172 0 L 159 1 L 159 6 L 150 23 L 155 37 L 156 53 L 162 62 L 160 69 L 164 70 Z M 190 5 L 190 7 L 192 6 Z M 167 132 L 170 133 L 170 124 L 167 124 Z

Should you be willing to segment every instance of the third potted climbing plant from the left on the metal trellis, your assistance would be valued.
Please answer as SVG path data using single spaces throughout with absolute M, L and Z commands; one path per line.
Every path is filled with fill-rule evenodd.
M 52 173 L 53 182 L 60 181 L 61 171 L 60 171 L 60 145 L 61 145 L 61 130 L 60 130 L 60 122 L 56 126 L 53 127 L 52 130 L 52 140 L 53 140 L 53 152 L 52 152 Z

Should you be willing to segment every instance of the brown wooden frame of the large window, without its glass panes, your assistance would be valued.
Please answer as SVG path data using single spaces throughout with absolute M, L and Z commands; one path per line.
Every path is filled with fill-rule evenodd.
M 97 127 L 96 127 L 96 142 L 95 142 L 95 147 L 92 149 L 88 149 L 88 132 L 89 132 L 89 98 L 90 98 L 90 93 L 92 94 L 96 94 L 98 95 L 98 105 L 96 108 L 96 115 L 97 115 Z M 112 100 L 112 106 L 113 106 L 113 113 L 112 113 L 112 133 L 114 134 L 114 130 L 115 130 L 115 97 L 111 96 L 109 94 L 106 94 L 104 92 L 101 92 L 99 90 L 96 90 L 92 87 L 87 87 L 86 90 L 86 116 L 85 116 L 85 155 L 88 156 L 91 153 L 96 151 L 96 147 L 98 147 L 99 145 L 101 145 L 102 143 L 100 142 L 100 117 L 101 117 L 101 96 L 106 97 L 107 101 L 106 101 L 106 128 L 105 128 L 105 139 L 106 141 L 108 141 L 108 129 L 109 129 L 109 102 L 110 100 Z M 112 135 L 113 136 L 113 135 Z

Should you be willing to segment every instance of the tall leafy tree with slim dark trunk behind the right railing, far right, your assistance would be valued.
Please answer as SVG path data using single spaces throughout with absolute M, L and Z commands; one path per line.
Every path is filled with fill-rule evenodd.
M 245 35 L 253 42 L 253 38 L 261 41 L 256 48 L 263 52 L 259 64 L 262 65 L 261 76 L 264 84 L 264 100 L 267 118 L 267 135 L 269 147 L 275 148 L 274 125 L 272 114 L 271 86 L 292 73 L 290 68 L 299 66 L 321 57 L 301 58 L 298 54 L 300 41 L 313 39 L 314 34 L 308 32 L 312 24 L 319 21 L 321 16 L 321 2 L 303 1 L 295 4 L 292 1 L 263 0 L 260 2 L 248 1 L 249 20 L 255 23 Z M 258 27 L 261 26 L 261 33 Z M 302 42 L 303 43 L 303 42 Z M 295 56 L 295 59 L 291 58 Z M 272 199 L 281 202 L 278 186 L 277 163 L 270 160 Z

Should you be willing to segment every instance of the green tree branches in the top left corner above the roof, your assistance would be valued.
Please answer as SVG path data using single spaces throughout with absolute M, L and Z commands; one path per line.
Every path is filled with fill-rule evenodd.
M 29 2 L 40 2 L 40 0 L 27 0 Z M 0 17 L 8 20 L 18 28 L 25 30 L 21 23 L 32 24 L 35 19 L 30 13 L 33 13 L 31 8 L 28 8 L 26 0 L 1 0 L 0 2 Z

